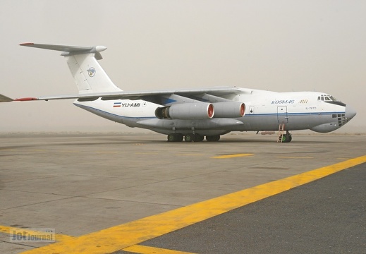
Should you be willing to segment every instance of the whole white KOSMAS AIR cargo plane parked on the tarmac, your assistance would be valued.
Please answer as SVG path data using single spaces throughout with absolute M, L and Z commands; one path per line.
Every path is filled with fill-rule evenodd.
M 105 119 L 168 135 L 168 141 L 218 141 L 231 131 L 334 131 L 355 116 L 348 104 L 324 92 L 270 92 L 239 87 L 126 92 L 111 81 L 97 60 L 106 47 L 20 44 L 61 51 L 78 86 L 77 95 L 11 99 L 0 102 L 76 99 L 74 104 Z M 285 132 L 286 131 L 286 132 Z M 282 134 L 281 134 L 282 133 Z

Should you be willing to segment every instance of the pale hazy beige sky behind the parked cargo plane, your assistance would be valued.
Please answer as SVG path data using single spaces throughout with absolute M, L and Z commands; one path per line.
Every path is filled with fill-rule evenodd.
M 75 94 L 59 52 L 18 46 L 104 45 L 123 90 L 238 86 L 327 92 L 366 129 L 366 1 L 13 1 L 0 8 L 0 93 Z M 4 131 L 118 131 L 73 100 L 0 104 Z

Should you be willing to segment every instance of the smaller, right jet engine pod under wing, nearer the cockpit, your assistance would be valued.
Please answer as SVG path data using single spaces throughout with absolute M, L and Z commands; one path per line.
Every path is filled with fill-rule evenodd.
M 237 118 L 245 115 L 243 102 L 215 102 L 214 118 Z

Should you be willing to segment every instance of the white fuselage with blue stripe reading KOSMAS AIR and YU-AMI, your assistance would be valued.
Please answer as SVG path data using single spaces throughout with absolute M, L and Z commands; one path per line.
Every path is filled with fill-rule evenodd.
M 166 104 L 140 99 L 76 100 L 74 104 L 111 121 L 163 134 L 172 131 L 182 134 L 195 131 L 200 135 L 222 135 L 231 131 L 278 131 L 279 123 L 285 124 L 286 131 L 311 129 L 327 133 L 343 126 L 355 114 L 346 104 L 322 92 L 239 89 L 241 92 L 225 98 L 245 104 L 245 116 L 235 119 L 215 116 L 212 119 L 157 119 L 155 110 Z M 197 102 L 202 102 L 202 99 Z

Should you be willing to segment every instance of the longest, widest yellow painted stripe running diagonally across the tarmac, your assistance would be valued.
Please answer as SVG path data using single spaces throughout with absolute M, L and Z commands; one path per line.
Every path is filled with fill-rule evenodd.
M 366 162 L 366 155 L 126 224 L 112 226 L 109 229 L 52 243 L 25 253 L 112 253 L 364 162 Z

